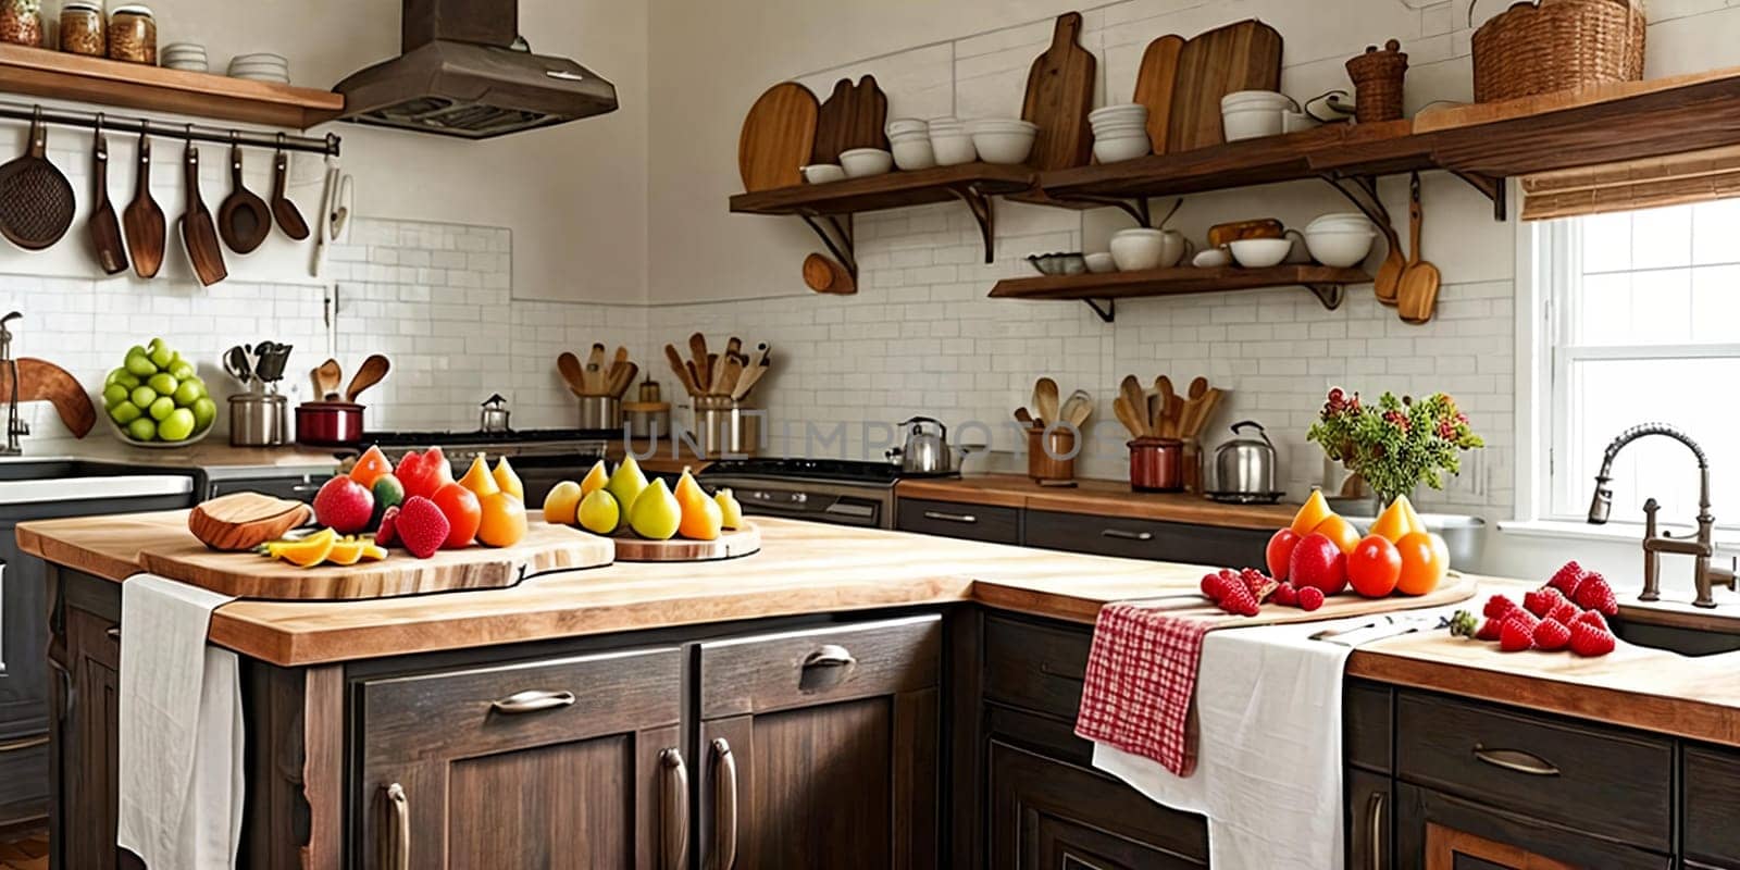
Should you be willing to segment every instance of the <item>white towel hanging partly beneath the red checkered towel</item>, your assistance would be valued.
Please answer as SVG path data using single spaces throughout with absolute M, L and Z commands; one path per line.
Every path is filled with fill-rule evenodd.
M 1352 647 L 1310 635 L 1366 623 L 1209 632 L 1197 672 L 1195 773 L 1173 776 L 1105 743 L 1094 743 L 1094 767 L 1159 804 L 1208 816 L 1211 867 L 1340 870 L 1342 670 Z

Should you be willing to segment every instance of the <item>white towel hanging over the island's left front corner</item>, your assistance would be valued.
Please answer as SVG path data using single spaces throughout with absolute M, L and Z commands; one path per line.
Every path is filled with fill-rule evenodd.
M 240 663 L 205 644 L 230 600 L 155 574 L 122 583 L 117 844 L 153 870 L 231 870 L 242 842 Z

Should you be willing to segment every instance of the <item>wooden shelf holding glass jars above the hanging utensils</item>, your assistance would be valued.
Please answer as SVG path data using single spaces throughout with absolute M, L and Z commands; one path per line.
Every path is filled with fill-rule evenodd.
M 101 106 L 304 130 L 345 111 L 345 96 L 0 44 L 0 90 Z

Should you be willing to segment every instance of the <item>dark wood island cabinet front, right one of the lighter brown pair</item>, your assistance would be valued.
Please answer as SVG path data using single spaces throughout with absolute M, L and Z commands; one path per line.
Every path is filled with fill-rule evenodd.
M 699 656 L 705 867 L 938 867 L 940 616 Z

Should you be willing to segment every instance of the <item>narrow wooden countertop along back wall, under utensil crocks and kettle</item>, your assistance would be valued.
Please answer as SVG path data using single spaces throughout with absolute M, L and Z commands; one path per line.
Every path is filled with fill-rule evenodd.
M 1298 505 L 1221 505 L 1185 492 L 1131 492 L 1124 480 L 1077 480 L 1074 487 L 1042 487 L 1020 475 L 907 478 L 894 485 L 894 496 L 1265 531 L 1293 522 L 1293 513 L 1298 512 Z

